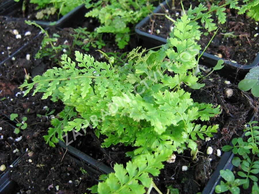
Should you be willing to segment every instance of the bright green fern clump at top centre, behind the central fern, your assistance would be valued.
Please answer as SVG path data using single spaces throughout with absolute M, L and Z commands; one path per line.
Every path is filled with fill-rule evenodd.
M 124 48 L 129 42 L 130 25 L 136 24 L 153 10 L 152 4 L 146 0 L 106 0 L 86 4 L 92 7 L 85 16 L 98 18 L 101 25 L 98 33 L 113 33 L 119 48 Z

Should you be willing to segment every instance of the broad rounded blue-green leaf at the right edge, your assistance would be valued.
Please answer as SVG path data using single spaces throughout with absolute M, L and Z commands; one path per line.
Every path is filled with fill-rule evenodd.
M 255 97 L 259 97 L 259 66 L 249 70 L 245 78 L 238 84 L 239 89 L 247 91 L 251 89 Z

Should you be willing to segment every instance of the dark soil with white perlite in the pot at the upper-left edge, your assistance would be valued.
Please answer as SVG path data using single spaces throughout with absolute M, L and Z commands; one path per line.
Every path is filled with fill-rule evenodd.
M 16 38 L 14 30 L 21 35 L 20 39 Z M 22 47 L 25 43 L 33 40 L 40 32 L 35 26 L 29 26 L 24 23 L 24 19 L 9 18 L 0 16 L 0 62 Z M 26 32 L 31 32 L 26 35 Z

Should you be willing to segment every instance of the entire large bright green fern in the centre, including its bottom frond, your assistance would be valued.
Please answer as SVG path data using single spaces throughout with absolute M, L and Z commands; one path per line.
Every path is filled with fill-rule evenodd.
M 144 193 L 145 187 L 156 188 L 148 173 L 157 176 L 161 162 L 173 151 L 182 153 L 189 148 L 196 152 L 198 137 L 212 137 L 217 132 L 218 125 L 201 126 L 195 121 L 208 121 L 220 113 L 220 106 L 195 103 L 183 89 L 186 85 L 194 89 L 204 86 L 191 72 L 200 50 L 196 39 L 201 33 L 195 18 L 207 19 L 207 26 L 214 29 L 210 14 L 201 12 L 206 10 L 203 5 L 193 10 L 175 22 L 168 44 L 158 51 L 133 49 L 123 66 L 114 64 L 114 57 L 106 56 L 108 63 L 98 62 L 75 51 L 76 62 L 64 54 L 61 68 L 49 69 L 21 85 L 26 88 L 24 95 L 35 86 L 33 95 L 43 92 L 43 99 L 51 96 L 65 105 L 44 136 L 50 146 L 63 140 L 63 132 L 89 126 L 97 137 L 106 135 L 103 147 L 118 143 L 137 147 L 126 153 L 132 162 L 126 168 L 116 164 L 115 173 L 101 176 L 104 182 L 92 187 L 93 192 L 134 193 L 138 188 L 138 193 Z

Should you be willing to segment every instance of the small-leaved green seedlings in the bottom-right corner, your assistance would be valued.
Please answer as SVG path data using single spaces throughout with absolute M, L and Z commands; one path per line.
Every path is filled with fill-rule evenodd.
M 248 126 L 244 129 L 244 131 L 247 131 L 245 136 L 249 137 L 247 142 L 243 141 L 242 138 L 234 138 L 232 140 L 233 146 L 226 145 L 222 147 L 223 151 L 229 151 L 232 149 L 234 154 L 239 154 L 243 157 L 243 160 L 241 160 L 240 157 L 233 157 L 232 164 L 237 167 L 241 166 L 242 171 L 237 172 L 237 174 L 244 179 L 235 180 L 235 177 L 230 170 L 221 170 L 221 176 L 222 174 L 228 175 L 228 177 L 222 176 L 225 180 L 227 180 L 227 183 L 221 181 L 220 185 L 215 188 L 216 193 L 221 193 L 228 190 L 230 190 L 231 193 L 239 193 L 239 188 L 237 186 L 243 185 L 243 188 L 247 189 L 249 187 L 250 180 L 254 181 L 254 191 L 258 190 L 258 186 L 256 184 L 256 182 L 258 182 L 258 178 L 252 175 L 259 173 L 259 161 L 256 159 L 259 156 L 259 127 L 252 126 L 257 123 L 257 121 L 247 123 Z

